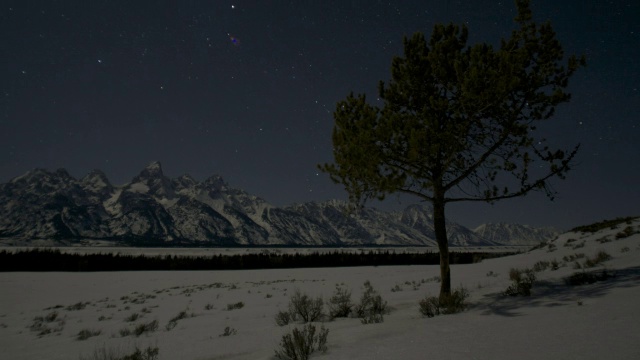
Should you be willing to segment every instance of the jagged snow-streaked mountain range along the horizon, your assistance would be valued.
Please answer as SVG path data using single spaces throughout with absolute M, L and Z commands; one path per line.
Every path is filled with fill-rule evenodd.
M 153 162 L 130 183 L 114 186 L 94 170 L 36 169 L 0 185 L 0 239 L 118 240 L 138 245 L 435 245 L 431 212 L 365 208 L 341 201 L 275 207 L 234 189 L 220 176 L 170 179 Z M 533 245 L 551 229 L 448 223 L 453 246 Z M 5 242 L 6 243 L 6 242 Z

